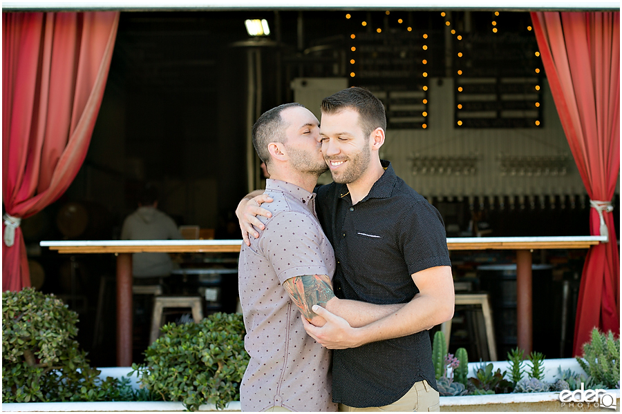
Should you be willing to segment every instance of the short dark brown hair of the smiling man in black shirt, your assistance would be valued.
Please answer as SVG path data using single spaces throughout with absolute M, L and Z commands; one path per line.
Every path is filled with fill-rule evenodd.
M 322 99 L 322 113 L 335 114 L 346 108 L 359 112 L 361 129 L 366 137 L 376 128 L 386 131 L 384 105 L 369 90 L 353 86 Z

